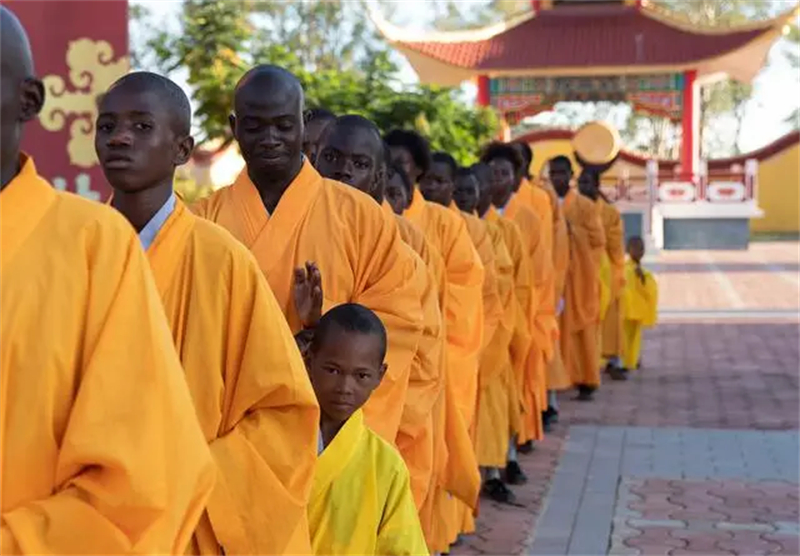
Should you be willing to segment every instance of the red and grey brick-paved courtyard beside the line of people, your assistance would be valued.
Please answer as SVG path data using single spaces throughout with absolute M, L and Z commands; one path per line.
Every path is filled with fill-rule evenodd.
M 668 252 L 641 371 L 561 422 L 453 554 L 800 554 L 800 244 Z

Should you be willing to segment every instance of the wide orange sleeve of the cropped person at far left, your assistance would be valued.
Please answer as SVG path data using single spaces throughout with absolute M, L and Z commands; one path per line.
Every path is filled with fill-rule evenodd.
M 93 283 L 54 454 L 60 486 L 2 515 L 4 554 L 181 554 L 212 489 L 213 463 L 147 260 L 132 231 L 114 231 L 86 238 Z

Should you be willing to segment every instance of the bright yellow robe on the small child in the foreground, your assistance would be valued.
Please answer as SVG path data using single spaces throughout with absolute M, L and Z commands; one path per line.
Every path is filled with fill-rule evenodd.
M 308 503 L 314 554 L 428 554 L 408 470 L 356 411 L 319 456 Z

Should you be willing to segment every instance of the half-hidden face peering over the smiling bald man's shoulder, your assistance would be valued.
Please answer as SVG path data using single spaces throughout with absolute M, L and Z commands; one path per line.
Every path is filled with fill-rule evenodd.
M 334 124 L 331 124 L 334 125 Z M 328 130 L 317 157 L 317 170 L 326 178 L 346 183 L 375 197 L 382 185 L 381 138 L 355 126 Z

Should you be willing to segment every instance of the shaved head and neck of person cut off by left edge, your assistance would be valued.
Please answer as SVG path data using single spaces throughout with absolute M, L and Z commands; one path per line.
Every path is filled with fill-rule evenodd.
M 44 86 L 33 74 L 28 35 L 11 10 L 0 6 L 0 187 L 19 170 L 22 125 L 44 104 Z

